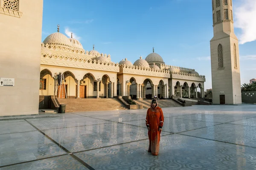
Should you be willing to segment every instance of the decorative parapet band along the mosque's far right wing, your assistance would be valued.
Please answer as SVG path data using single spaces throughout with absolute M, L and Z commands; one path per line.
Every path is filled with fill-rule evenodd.
M 191 73 L 187 73 L 187 72 L 170 72 L 170 78 L 205 82 L 205 76 L 191 74 Z

